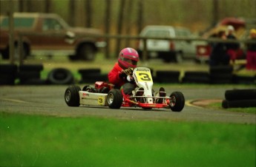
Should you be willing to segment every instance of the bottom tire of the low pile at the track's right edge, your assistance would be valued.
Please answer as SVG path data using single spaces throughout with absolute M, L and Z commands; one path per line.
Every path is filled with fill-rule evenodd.
M 222 106 L 223 106 L 224 109 L 256 107 L 256 99 L 250 99 L 250 100 L 223 100 Z

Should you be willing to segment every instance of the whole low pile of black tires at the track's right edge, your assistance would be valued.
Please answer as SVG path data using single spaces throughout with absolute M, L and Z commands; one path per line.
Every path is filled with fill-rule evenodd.
M 224 109 L 256 107 L 256 89 L 226 90 L 222 106 Z

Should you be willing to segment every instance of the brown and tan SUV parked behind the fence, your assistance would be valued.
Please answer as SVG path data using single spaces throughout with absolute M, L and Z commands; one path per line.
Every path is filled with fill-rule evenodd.
M 14 56 L 19 53 L 19 35 L 22 35 L 23 58 L 29 55 L 65 54 L 69 58 L 93 61 L 99 47 L 105 47 L 93 28 L 70 27 L 54 13 L 14 13 Z M 0 16 L 0 52 L 9 58 L 9 17 Z

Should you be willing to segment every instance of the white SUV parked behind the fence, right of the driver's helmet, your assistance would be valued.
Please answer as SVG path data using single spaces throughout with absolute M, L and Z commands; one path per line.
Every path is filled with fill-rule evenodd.
M 185 27 L 171 27 L 150 25 L 140 33 L 142 37 L 148 38 L 192 38 L 190 30 Z M 143 41 L 140 40 L 138 51 L 143 50 Z M 148 58 L 163 58 L 165 62 L 181 62 L 183 58 L 195 58 L 196 47 L 193 41 L 185 40 L 147 40 Z

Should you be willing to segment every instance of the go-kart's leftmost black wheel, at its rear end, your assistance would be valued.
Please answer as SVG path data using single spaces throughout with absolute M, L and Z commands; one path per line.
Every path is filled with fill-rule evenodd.
M 65 91 L 65 102 L 68 106 L 79 106 L 80 105 L 80 98 L 79 98 L 79 91 L 81 88 L 76 85 L 68 86 Z

